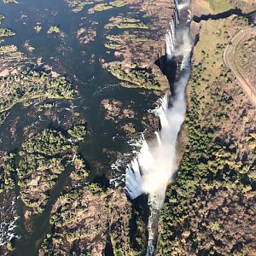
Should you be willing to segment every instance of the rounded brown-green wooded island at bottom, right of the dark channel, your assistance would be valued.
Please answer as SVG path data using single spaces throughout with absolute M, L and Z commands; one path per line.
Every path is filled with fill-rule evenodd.
M 77 252 L 91 255 L 92 248 L 98 246 L 97 239 L 104 236 L 102 232 L 106 229 L 107 211 L 103 204 L 104 198 L 91 195 L 84 186 L 63 191 L 49 220 L 54 226 L 53 233 L 44 239 L 40 251 L 46 254 L 54 250 L 59 255 L 67 251 L 70 255 Z M 84 242 L 88 241 L 90 247 L 84 247 Z

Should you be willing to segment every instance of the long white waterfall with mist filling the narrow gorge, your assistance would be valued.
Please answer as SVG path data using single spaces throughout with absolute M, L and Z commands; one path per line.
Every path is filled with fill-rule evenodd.
M 177 136 L 183 125 L 186 102 L 185 88 L 190 75 L 190 56 L 193 47 L 189 37 L 189 0 L 176 0 L 176 15 L 170 23 L 170 30 L 166 32 L 166 65 L 175 55 L 183 55 L 179 75 L 174 83 L 174 91 L 169 101 L 165 96 L 162 99 L 157 113 L 160 117 L 161 130 L 156 132 L 154 142 L 143 140 L 142 148 L 137 158 L 131 161 L 126 168 L 125 188 L 131 200 L 143 193 L 148 194 L 150 216 L 148 219 L 148 249 L 147 256 L 154 255 L 157 241 L 157 228 L 159 212 L 165 201 L 166 186 L 171 183 L 173 174 L 177 171 L 176 148 Z M 183 19 L 175 21 L 178 17 L 177 9 Z M 177 31 L 177 32 L 176 32 Z M 177 39 L 175 39 L 177 35 Z M 177 42 L 181 42 L 177 45 Z

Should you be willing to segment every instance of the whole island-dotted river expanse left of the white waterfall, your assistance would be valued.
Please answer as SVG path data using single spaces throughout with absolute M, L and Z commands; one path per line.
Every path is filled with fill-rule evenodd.
M 173 12 L 171 1 L 0 3 L 1 254 L 145 253 L 147 207 L 113 166 L 159 129 Z

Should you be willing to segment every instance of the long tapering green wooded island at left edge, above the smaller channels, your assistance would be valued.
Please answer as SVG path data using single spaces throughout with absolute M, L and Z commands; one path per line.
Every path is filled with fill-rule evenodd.
M 73 98 L 72 86 L 64 77 L 50 78 L 44 72 L 22 71 L 0 77 L 0 84 L 0 95 L 4 95 L 0 98 L 0 112 L 34 98 Z

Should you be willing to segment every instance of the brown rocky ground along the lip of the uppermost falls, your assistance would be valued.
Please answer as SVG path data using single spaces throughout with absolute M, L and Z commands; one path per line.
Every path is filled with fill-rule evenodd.
M 160 71 L 160 67 L 154 64 L 160 56 L 166 55 L 166 30 L 170 27 L 174 5 L 171 1 L 129 1 L 128 6 L 131 18 L 137 12 L 143 12 L 148 18 L 145 23 L 148 29 L 133 29 L 131 32 L 119 32 L 114 39 L 118 46 L 114 49 L 113 55 L 116 61 L 107 63 L 102 61 L 103 67 L 111 69 L 121 65 L 129 73 L 131 67 L 136 64 L 139 68 L 149 68 L 160 82 L 161 91 L 170 90 L 166 77 Z M 108 31 L 111 33 L 111 29 Z

